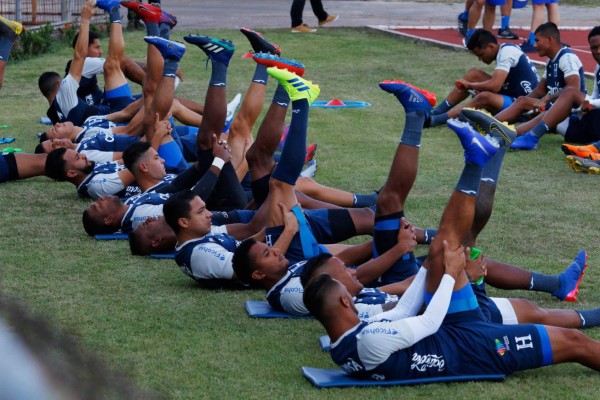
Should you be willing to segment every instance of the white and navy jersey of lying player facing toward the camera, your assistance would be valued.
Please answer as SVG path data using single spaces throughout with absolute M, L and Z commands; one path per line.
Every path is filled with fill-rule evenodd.
M 238 245 L 227 235 L 225 226 L 213 226 L 208 235 L 178 244 L 175 262 L 184 274 L 198 282 L 231 280 L 231 260 Z

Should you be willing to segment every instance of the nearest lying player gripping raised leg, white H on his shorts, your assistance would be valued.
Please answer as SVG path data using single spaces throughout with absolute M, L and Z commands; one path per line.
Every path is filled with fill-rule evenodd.
M 475 133 L 457 133 L 463 172 L 424 267 L 398 305 L 361 322 L 340 282 L 319 275 L 307 284 L 304 303 L 330 336 L 333 361 L 355 377 L 376 380 L 510 374 L 562 362 L 600 370 L 600 342 L 577 330 L 486 322 L 464 273 L 461 243 L 475 215 L 482 167 L 496 149 Z M 417 316 L 423 303 L 427 308 Z

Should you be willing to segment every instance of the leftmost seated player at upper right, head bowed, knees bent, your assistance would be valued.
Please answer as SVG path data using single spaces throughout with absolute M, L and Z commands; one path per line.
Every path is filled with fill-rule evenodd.
M 490 75 L 479 68 L 471 68 L 456 80 L 448 96 L 431 111 L 425 126 L 445 124 L 450 118 L 456 118 L 463 107 L 482 108 L 496 114 L 508 108 L 518 97 L 526 96 L 539 84 L 540 78 L 535 66 L 521 51 L 511 43 L 499 44 L 489 31 L 477 29 L 467 44 L 469 50 L 483 63 L 496 62 L 496 68 Z M 474 92 L 475 96 L 461 104 Z

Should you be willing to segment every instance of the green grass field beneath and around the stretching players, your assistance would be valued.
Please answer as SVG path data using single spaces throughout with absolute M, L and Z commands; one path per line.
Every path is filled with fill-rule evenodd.
M 228 97 L 244 92 L 253 63 L 239 56 L 249 45 L 237 31 L 206 31 L 236 41 Z M 378 189 L 386 179 L 402 132 L 404 112 L 377 83 L 399 78 L 444 97 L 469 67 L 483 65 L 467 53 L 415 45 L 361 29 L 331 29 L 327 35 L 265 32 L 286 57 L 307 66 L 321 85 L 322 100 L 368 101 L 369 108 L 311 110 L 309 140 L 319 144 L 317 180 L 357 192 Z M 127 52 L 144 56 L 141 33 L 127 33 Z M 181 32 L 173 35 L 181 39 Z M 106 45 L 105 45 L 106 46 Z M 105 49 L 106 51 L 106 49 Z M 44 70 L 62 71 L 68 48 L 11 63 L 0 91 L 2 136 L 32 151 L 47 105 L 36 87 Z M 210 70 L 189 46 L 179 94 L 203 100 Z M 588 86 L 589 87 L 589 86 Z M 275 88 L 270 84 L 267 99 Z M 268 104 L 267 101 L 267 104 Z M 598 178 L 566 166 L 560 137 L 548 135 L 540 149 L 506 156 L 494 214 L 478 247 L 489 257 L 530 270 L 558 273 L 582 247 L 590 253 L 578 308 L 600 305 L 596 246 Z M 445 128 L 424 132 L 420 173 L 406 205 L 417 225 L 436 226 L 463 163 L 456 138 Z M 333 367 L 318 349 L 324 333 L 315 321 L 254 320 L 244 300 L 261 291 L 198 288 L 173 261 L 129 255 L 125 242 L 96 242 L 81 226 L 88 201 L 75 188 L 44 177 L 0 185 L 1 284 L 81 345 L 144 389 L 169 398 L 597 398 L 598 375 L 580 366 L 556 366 L 515 374 L 505 383 L 465 383 L 389 389 L 319 391 L 300 374 L 303 365 Z M 422 254 L 426 249 L 418 249 Z M 573 308 L 549 295 L 524 296 L 546 307 Z M 600 330 L 588 331 L 600 338 Z

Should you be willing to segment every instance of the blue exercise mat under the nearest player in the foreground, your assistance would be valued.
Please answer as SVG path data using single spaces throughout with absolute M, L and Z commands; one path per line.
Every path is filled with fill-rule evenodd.
M 467 382 L 467 381 L 503 381 L 505 376 L 498 375 L 463 375 L 438 376 L 394 381 L 376 381 L 353 378 L 341 369 L 321 369 L 302 367 L 302 375 L 318 388 L 352 387 L 352 386 L 405 386 L 428 383 Z

